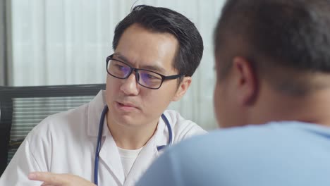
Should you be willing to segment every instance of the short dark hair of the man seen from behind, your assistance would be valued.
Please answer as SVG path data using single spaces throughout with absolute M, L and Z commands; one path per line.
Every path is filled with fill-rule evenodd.
M 246 58 L 274 89 L 304 95 L 330 75 L 330 1 L 229 0 L 215 30 L 218 80 Z M 317 79 L 317 80 L 316 80 Z

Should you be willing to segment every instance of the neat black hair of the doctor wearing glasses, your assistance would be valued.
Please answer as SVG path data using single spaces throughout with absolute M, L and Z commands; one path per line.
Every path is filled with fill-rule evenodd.
M 135 23 L 152 32 L 168 32 L 175 36 L 179 46 L 173 68 L 185 76 L 192 76 L 195 73 L 202 59 L 203 41 L 200 32 L 188 18 L 168 8 L 135 6 L 116 26 L 112 42 L 114 50 L 123 32 Z

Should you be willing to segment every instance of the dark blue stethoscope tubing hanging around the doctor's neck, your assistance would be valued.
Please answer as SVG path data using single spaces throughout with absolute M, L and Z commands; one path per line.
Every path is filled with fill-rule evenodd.
M 106 116 L 106 112 L 109 111 L 108 106 L 104 106 L 104 109 L 101 114 L 101 118 L 99 120 L 99 133 L 97 135 L 97 148 L 95 151 L 95 161 L 94 161 L 94 184 L 97 185 L 99 182 L 98 174 L 99 174 L 99 151 L 101 147 L 101 139 L 102 139 L 102 132 L 103 132 L 103 124 L 104 124 L 104 118 Z M 164 113 L 161 114 L 161 118 L 164 120 L 167 130 L 169 130 L 169 144 L 167 145 L 161 145 L 157 147 L 157 151 L 160 151 L 161 149 L 164 149 L 164 147 L 171 146 L 172 145 L 172 128 L 169 124 L 169 120 L 167 120 Z

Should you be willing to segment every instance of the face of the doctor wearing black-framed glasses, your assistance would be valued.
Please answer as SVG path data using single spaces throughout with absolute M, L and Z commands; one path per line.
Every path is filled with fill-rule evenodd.
M 173 35 L 152 32 L 134 24 L 121 35 L 113 58 L 133 68 L 152 70 L 166 76 L 177 75 L 178 71 L 173 68 L 177 49 L 178 41 Z M 123 66 L 118 66 L 117 69 L 119 68 Z M 107 118 L 114 125 L 154 127 L 161 113 L 171 101 L 180 99 L 185 89 L 178 86 L 177 79 L 165 80 L 159 89 L 149 89 L 138 84 L 136 75 L 136 71 L 126 79 L 107 75 L 106 102 L 109 107 Z M 140 72 L 140 83 L 145 78 L 149 76 L 145 77 Z

